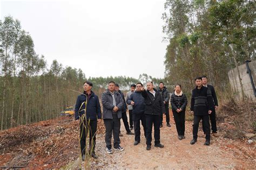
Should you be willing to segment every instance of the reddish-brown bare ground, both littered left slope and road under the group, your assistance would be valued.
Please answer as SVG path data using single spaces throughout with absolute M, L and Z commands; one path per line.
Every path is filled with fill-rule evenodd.
M 172 115 L 170 115 L 172 118 Z M 122 121 L 122 120 L 121 120 Z M 0 132 L 0 168 L 15 166 L 29 169 L 61 168 L 73 164 L 79 157 L 78 121 L 71 117 L 41 121 L 36 124 L 18 126 Z M 160 140 L 164 148 L 153 146 L 146 151 L 145 138 L 141 135 L 140 144 L 133 146 L 134 136 L 125 134 L 122 123 L 121 139 L 123 152 L 105 152 L 104 125 L 98 125 L 96 154 L 99 159 L 91 159 L 92 168 L 128 168 L 128 169 L 255 169 L 255 142 L 247 144 L 247 139 L 232 140 L 212 137 L 211 145 L 204 146 L 204 138 L 195 145 L 192 139 L 192 122 L 186 121 L 186 139 L 179 140 L 176 127 L 160 129 Z M 143 134 L 143 128 L 142 128 Z M 200 135 L 203 135 L 199 131 Z M 153 137 L 153 135 L 152 135 Z M 83 169 L 83 164 L 69 166 L 71 169 Z

